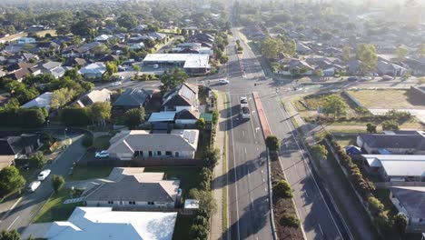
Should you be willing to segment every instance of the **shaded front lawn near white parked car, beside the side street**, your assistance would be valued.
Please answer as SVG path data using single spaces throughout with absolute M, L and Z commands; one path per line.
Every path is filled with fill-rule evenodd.
M 109 165 L 77 165 L 74 168 L 74 173 L 72 175 L 66 176 L 66 181 L 81 181 L 93 178 L 104 178 L 111 173 L 112 169 L 113 166 Z

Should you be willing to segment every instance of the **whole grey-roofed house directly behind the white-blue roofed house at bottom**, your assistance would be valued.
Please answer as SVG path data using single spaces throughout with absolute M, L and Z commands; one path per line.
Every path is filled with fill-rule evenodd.
M 163 180 L 164 173 L 143 173 L 143 169 L 115 167 L 107 182 L 84 191 L 85 204 L 126 208 L 173 208 L 180 204 L 180 180 Z

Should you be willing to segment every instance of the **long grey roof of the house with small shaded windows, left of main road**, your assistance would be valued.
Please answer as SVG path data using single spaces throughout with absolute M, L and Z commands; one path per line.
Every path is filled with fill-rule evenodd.
M 149 134 L 146 131 L 123 131 L 111 139 L 108 153 L 135 151 L 196 151 L 198 130 L 173 130 L 170 134 Z

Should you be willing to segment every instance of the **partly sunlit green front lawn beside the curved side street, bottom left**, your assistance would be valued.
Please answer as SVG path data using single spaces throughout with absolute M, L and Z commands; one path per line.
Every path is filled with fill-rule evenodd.
M 64 200 L 70 198 L 70 190 L 61 189 L 57 194 L 52 195 L 43 208 L 35 215 L 33 223 L 46 223 L 53 221 L 64 221 L 73 213 L 76 206 L 83 205 L 83 202 L 64 205 Z

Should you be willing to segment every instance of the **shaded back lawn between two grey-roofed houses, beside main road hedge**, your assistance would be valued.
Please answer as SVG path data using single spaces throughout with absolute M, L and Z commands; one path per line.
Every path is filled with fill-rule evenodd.
M 182 166 L 161 166 L 161 167 L 145 167 L 144 172 L 165 173 L 166 179 L 179 179 L 180 188 L 183 190 L 185 197 L 189 190 L 199 186 L 201 182 L 199 172 L 200 167 L 182 167 Z

